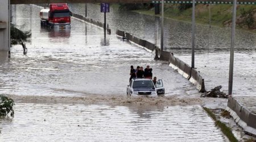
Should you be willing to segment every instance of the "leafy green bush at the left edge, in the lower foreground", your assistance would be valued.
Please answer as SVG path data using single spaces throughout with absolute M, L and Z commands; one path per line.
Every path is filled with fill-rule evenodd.
M 0 116 L 7 116 L 9 113 L 14 116 L 14 105 L 13 99 L 0 95 Z

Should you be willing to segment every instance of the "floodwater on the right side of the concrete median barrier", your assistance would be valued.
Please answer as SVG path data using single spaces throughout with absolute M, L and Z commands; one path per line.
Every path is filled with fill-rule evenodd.
M 168 5 L 168 4 L 167 4 Z M 171 5 L 171 4 L 169 4 Z M 85 4 L 71 4 L 72 11 L 85 15 Z M 99 5 L 88 4 L 88 18 L 103 22 Z M 111 9 L 106 22 L 112 30 L 123 30 L 159 45 L 160 19 Z M 191 23 L 164 19 L 164 50 L 191 65 Z M 205 80 L 207 90 L 222 85 L 228 93 L 231 28 L 196 25 L 195 68 Z M 255 95 L 256 34 L 236 31 L 234 54 L 233 95 Z

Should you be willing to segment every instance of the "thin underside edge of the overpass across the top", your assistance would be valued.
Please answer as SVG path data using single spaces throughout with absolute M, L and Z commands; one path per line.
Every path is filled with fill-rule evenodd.
M 3 1 L 3 0 L 0 0 Z M 10 0 L 11 5 L 38 3 L 160 3 L 161 0 Z M 166 0 L 165 3 L 191 3 L 192 0 Z M 255 0 L 237 0 L 241 4 L 256 4 Z M 196 3 L 231 4 L 233 0 L 196 0 Z

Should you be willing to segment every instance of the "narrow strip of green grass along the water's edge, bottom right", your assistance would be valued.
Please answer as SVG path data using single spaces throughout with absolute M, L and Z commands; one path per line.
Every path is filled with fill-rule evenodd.
M 230 141 L 232 142 L 238 141 L 236 137 L 234 137 L 232 130 L 229 127 L 227 127 L 225 123 L 222 123 L 220 122 L 220 120 L 217 120 L 215 114 L 209 108 L 206 108 L 206 107 L 203 107 L 203 108 L 208 113 L 208 115 L 214 120 L 216 126 L 221 129 L 221 131 L 224 133 L 224 135 L 226 135 L 226 137 L 228 137 Z

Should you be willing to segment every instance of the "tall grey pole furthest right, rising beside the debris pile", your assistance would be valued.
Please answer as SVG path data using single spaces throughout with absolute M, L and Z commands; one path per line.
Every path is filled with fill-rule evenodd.
M 232 95 L 232 87 L 233 87 L 234 40 L 235 40 L 235 35 L 236 35 L 236 14 L 237 14 L 237 0 L 234 0 L 234 2 L 233 2 L 231 48 L 230 48 L 230 62 L 229 62 L 229 95 Z

